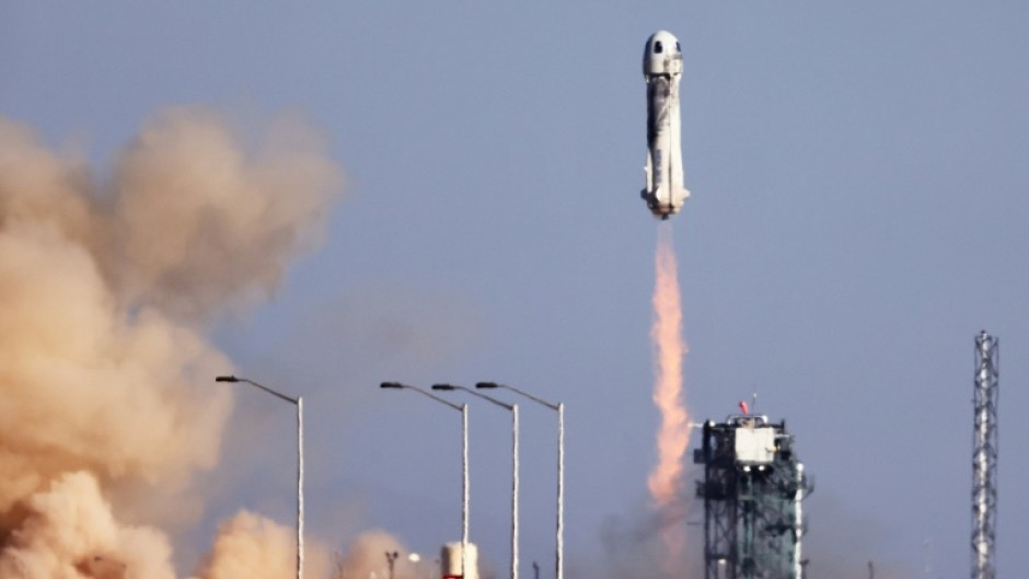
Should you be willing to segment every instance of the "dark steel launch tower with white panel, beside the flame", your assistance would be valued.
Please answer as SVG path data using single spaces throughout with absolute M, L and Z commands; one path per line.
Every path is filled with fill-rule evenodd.
M 802 579 L 801 501 L 811 485 L 785 421 L 730 416 L 704 424 L 705 579 Z

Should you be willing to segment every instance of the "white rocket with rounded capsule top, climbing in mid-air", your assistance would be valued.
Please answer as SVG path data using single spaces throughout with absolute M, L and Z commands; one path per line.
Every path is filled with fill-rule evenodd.
M 668 219 L 682 209 L 690 192 L 682 184 L 682 127 L 679 119 L 679 81 L 682 48 L 671 33 L 659 31 L 644 49 L 647 81 L 646 188 L 640 196 L 655 217 Z

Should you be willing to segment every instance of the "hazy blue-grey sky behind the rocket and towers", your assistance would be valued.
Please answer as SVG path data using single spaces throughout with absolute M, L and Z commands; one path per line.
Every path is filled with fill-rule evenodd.
M 598 568 L 655 462 L 640 58 L 667 28 L 685 55 L 693 197 L 672 227 L 692 416 L 756 390 L 787 420 L 816 482 L 812 575 L 874 559 L 967 577 L 985 328 L 1002 351 L 998 576 L 1017 577 L 1027 24 L 1015 1 L 7 0 L 0 114 L 103 174 L 167 106 L 242 126 L 304 112 L 345 200 L 275 299 L 215 332 L 241 375 L 307 396 L 311 532 L 456 539 L 459 417 L 378 384 L 496 380 L 566 403 L 569 569 Z M 290 521 L 291 416 L 242 394 L 182 565 L 241 506 Z M 554 416 L 522 414 L 523 568 L 546 571 Z M 505 569 L 508 417 L 473 404 L 471 427 L 472 539 Z

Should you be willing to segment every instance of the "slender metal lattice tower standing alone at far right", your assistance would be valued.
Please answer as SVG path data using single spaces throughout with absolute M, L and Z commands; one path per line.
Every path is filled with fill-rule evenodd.
M 999 340 L 975 336 L 975 430 L 972 438 L 972 579 L 995 579 L 997 520 L 997 391 Z

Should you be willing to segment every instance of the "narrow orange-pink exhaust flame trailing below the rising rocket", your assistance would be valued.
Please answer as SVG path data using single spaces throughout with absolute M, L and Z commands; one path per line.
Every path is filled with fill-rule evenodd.
M 679 273 L 671 230 L 661 227 L 655 255 L 656 280 L 654 288 L 655 385 L 654 403 L 661 413 L 657 435 L 658 463 L 647 479 L 654 506 L 662 519 L 678 520 L 684 514 L 680 503 L 683 455 L 690 443 L 690 418 L 683 403 L 683 358 L 687 350 L 682 336 L 682 304 Z M 661 529 L 668 548 L 668 569 L 680 567 L 684 537 L 682 524 L 668 524 Z

